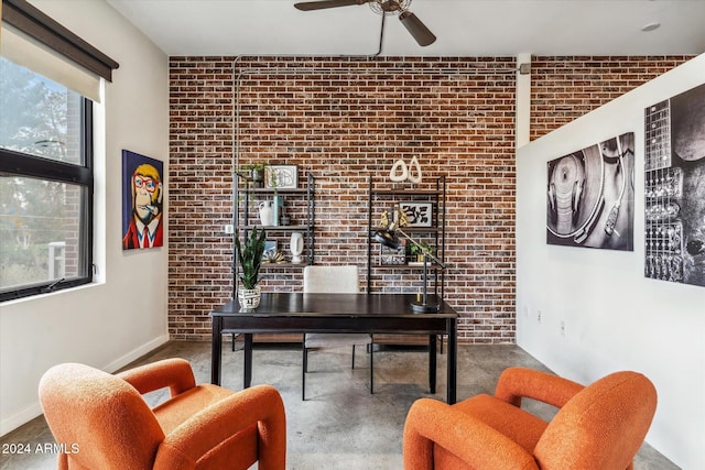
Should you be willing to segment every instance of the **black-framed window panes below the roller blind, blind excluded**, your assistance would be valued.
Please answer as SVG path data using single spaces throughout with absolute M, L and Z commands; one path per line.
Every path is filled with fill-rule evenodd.
M 0 57 L 0 300 L 91 281 L 91 106 Z

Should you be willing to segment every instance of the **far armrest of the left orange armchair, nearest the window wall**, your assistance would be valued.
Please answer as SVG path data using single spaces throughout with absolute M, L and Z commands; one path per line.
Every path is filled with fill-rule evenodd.
M 117 375 L 142 395 L 169 386 L 171 395 L 176 396 L 196 386 L 191 364 L 184 359 L 164 359 Z

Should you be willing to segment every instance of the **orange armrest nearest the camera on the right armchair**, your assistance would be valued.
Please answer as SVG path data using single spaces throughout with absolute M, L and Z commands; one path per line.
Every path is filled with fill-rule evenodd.
M 538 469 L 533 456 L 479 419 L 432 398 L 419 398 L 404 424 L 404 469 L 434 469 L 437 444 L 475 469 Z

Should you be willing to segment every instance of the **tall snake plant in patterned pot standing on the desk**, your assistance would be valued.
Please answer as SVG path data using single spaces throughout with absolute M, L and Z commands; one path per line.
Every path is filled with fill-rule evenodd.
M 241 308 L 257 308 L 260 305 L 259 276 L 265 241 L 267 232 L 264 229 L 258 231 L 254 227 L 250 236 L 245 238 L 243 243 L 240 243 L 239 230 L 236 230 L 235 248 L 242 271 L 240 273 L 242 284 L 238 287 L 238 300 Z

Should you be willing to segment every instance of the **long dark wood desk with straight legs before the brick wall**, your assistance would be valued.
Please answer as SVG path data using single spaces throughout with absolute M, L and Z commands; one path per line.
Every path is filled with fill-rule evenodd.
M 210 381 L 220 384 L 223 334 L 245 335 L 245 384 L 252 381 L 252 334 L 369 332 L 429 335 L 429 383 L 436 390 L 436 335 L 448 336 L 447 402 L 456 400 L 457 317 L 443 302 L 438 313 L 414 314 L 413 294 L 263 293 L 260 306 L 240 311 L 231 300 L 212 311 L 213 359 Z

